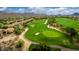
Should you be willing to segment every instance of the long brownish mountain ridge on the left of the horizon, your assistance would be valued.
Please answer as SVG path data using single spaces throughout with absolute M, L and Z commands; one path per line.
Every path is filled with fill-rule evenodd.
M 46 16 L 45 14 L 34 14 L 34 13 L 5 13 L 5 12 L 0 12 L 0 17 L 8 17 L 8 16 L 25 16 L 25 17 L 32 17 L 32 16 Z

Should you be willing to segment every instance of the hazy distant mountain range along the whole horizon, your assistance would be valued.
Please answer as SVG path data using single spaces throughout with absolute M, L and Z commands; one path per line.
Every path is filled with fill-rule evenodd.
M 7 13 L 7 12 L 0 11 L 0 17 L 5 17 L 5 16 L 25 16 L 25 17 L 38 16 L 38 17 L 40 17 L 40 16 L 47 16 L 47 15 L 45 15 L 45 14 L 35 14 L 35 13 Z M 48 15 L 48 16 L 65 16 L 65 15 L 58 14 L 58 15 Z M 79 16 L 79 13 L 73 13 L 69 16 Z

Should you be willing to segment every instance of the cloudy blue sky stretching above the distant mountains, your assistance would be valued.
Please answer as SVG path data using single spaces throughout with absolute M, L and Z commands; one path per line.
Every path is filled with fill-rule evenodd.
M 0 12 L 71 15 L 79 13 L 79 7 L 0 7 Z

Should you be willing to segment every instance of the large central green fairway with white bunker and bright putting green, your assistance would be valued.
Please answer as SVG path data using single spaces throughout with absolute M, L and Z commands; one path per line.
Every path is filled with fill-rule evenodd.
M 29 30 L 25 33 L 25 38 L 34 42 L 45 43 L 45 44 L 58 44 L 66 45 L 70 44 L 69 37 L 55 29 L 47 28 L 47 24 L 44 24 L 46 20 L 34 20 L 28 24 Z M 39 33 L 38 35 L 35 35 Z

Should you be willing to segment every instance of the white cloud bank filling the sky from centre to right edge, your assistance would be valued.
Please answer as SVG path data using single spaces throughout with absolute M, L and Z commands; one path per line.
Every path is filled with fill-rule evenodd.
M 47 15 L 71 15 L 75 12 L 79 12 L 79 8 L 66 8 L 66 7 L 60 7 L 60 8 L 38 8 L 38 7 L 33 7 L 29 8 L 32 13 L 37 13 L 37 14 L 47 14 Z

